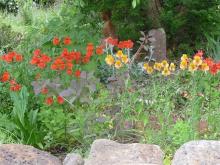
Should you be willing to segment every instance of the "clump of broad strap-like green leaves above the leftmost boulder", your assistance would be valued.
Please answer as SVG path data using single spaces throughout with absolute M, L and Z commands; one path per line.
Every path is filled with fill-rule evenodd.
M 37 123 L 37 110 L 28 110 L 28 91 L 23 87 L 19 93 L 11 93 L 14 103 L 11 122 L 15 125 L 13 132 L 23 144 L 31 144 L 42 148 L 42 133 Z

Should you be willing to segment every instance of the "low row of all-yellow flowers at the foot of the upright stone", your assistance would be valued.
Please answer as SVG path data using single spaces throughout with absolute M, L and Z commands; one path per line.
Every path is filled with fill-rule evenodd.
M 148 63 L 144 63 L 143 69 L 148 73 L 152 74 L 155 71 L 162 72 L 162 75 L 169 76 L 172 72 L 175 71 L 176 66 L 174 63 L 168 63 L 166 60 L 163 60 L 161 63 L 155 62 L 153 66 L 150 66 Z

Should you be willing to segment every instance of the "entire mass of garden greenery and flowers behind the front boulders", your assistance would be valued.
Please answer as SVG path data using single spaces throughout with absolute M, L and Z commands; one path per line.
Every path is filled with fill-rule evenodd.
M 0 0 L 0 143 L 85 155 L 97 138 L 152 143 L 169 164 L 184 142 L 219 139 L 220 2 L 160 0 L 158 15 L 152 2 Z M 103 50 L 108 10 L 125 41 Z M 140 31 L 159 27 L 175 63 L 129 63 Z

